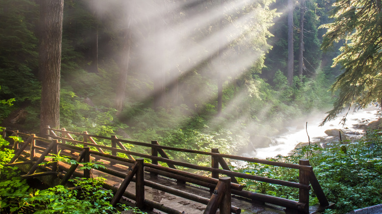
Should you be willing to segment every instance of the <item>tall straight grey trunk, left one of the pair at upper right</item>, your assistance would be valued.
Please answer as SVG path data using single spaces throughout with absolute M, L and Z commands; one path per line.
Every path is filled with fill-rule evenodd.
M 293 0 L 288 0 L 288 85 L 293 85 Z

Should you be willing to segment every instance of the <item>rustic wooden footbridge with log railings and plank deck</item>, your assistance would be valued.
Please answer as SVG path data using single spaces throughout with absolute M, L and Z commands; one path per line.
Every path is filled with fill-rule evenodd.
M 221 154 L 218 149 L 211 152 L 172 148 L 151 143 L 104 137 L 67 131 L 65 128 L 46 128 L 47 138 L 34 134 L 4 129 L 2 135 L 18 136 L 23 140 L 14 141 L 15 156 L 8 165 L 19 165 L 27 173 L 24 178 L 56 178 L 56 183 L 66 185 L 74 176 L 107 176 L 105 189 L 111 189 L 114 197 L 111 204 L 116 206 L 122 200 L 135 203 L 140 209 L 154 213 L 169 214 L 309 214 L 323 211 L 330 206 L 318 183 L 309 160 L 299 164 L 289 164 L 235 155 Z M 10 139 L 10 138 L 8 138 Z M 107 146 L 106 146 L 107 145 Z M 142 147 L 147 153 L 133 152 L 131 145 Z M 105 169 L 77 169 L 78 164 L 54 162 L 49 166 L 39 166 L 46 156 L 57 154 L 70 156 L 77 163 L 91 160 L 102 161 Z M 186 155 L 207 155 L 211 166 L 200 166 L 170 159 L 168 151 Z M 159 156 L 160 155 L 160 156 Z M 176 157 L 174 157 L 176 158 Z M 299 182 L 290 182 L 231 171 L 225 159 L 249 163 L 266 164 L 276 167 L 297 169 Z M 80 165 L 81 165 L 80 163 Z M 184 170 L 188 169 L 188 171 Z M 190 169 L 207 172 L 207 175 L 191 173 Z M 298 188 L 298 201 L 243 190 L 237 178 L 244 178 L 286 187 Z M 54 180 L 54 179 L 53 179 Z M 309 206 L 310 189 L 319 200 L 319 205 Z

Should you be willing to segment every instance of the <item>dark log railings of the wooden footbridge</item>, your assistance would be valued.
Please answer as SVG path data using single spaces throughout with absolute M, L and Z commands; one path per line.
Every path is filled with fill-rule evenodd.
M 61 148 L 67 148 L 70 150 L 77 150 L 80 152 L 80 155 L 78 157 L 79 160 L 82 159 L 83 161 L 85 161 L 86 160 L 85 157 L 82 157 L 82 158 L 80 157 L 82 152 L 83 152 L 83 151 L 81 152 L 81 150 L 83 150 L 83 148 L 78 147 L 79 145 L 83 145 L 83 147 L 91 147 L 91 148 L 96 149 L 96 151 L 95 150 L 89 150 L 89 152 L 88 152 L 89 154 L 92 154 L 94 157 L 102 157 L 102 159 L 109 160 L 111 164 L 115 164 L 115 163 L 119 162 L 119 163 L 126 163 L 126 164 L 129 164 L 130 166 L 132 166 L 130 168 L 130 171 L 132 171 L 131 173 L 133 175 L 131 175 L 130 171 L 129 171 L 129 173 L 130 173 L 130 175 L 129 175 L 129 173 L 125 174 L 125 173 L 121 173 L 118 171 L 113 171 L 111 169 L 98 169 L 100 171 L 105 171 L 106 173 L 110 173 L 110 174 L 119 176 L 121 178 L 124 178 L 125 179 L 124 183 L 127 183 L 127 185 L 131 180 L 137 182 L 137 180 L 136 180 L 137 179 L 137 174 L 136 174 L 137 172 L 134 172 L 134 171 L 136 171 L 137 167 L 134 167 L 134 166 L 136 166 L 137 160 L 141 161 L 142 158 L 146 158 L 146 159 L 151 160 L 151 164 L 150 163 L 144 163 L 144 164 L 142 164 L 142 166 L 143 166 L 144 171 L 150 172 L 151 176 L 157 176 L 157 175 L 166 176 L 169 178 L 176 179 L 178 181 L 178 183 L 182 183 L 182 184 L 184 184 L 187 181 L 189 183 L 208 187 L 208 188 L 210 188 L 211 191 L 214 190 L 214 192 L 215 192 L 215 190 L 216 190 L 217 193 L 219 193 L 219 192 L 221 192 L 221 190 L 223 188 L 222 187 L 223 184 L 221 184 L 223 182 L 223 181 L 221 181 L 222 177 L 219 177 L 219 176 L 220 176 L 220 174 L 226 175 L 228 177 L 225 177 L 225 179 L 229 178 L 229 185 L 228 185 L 229 187 L 226 187 L 227 184 L 224 184 L 223 185 L 223 186 L 225 186 L 223 188 L 224 190 L 228 191 L 228 189 L 229 189 L 229 192 L 232 192 L 232 194 L 247 197 L 247 198 L 250 198 L 254 201 L 259 201 L 259 202 L 263 202 L 263 203 L 271 203 L 271 204 L 283 206 L 283 207 L 286 207 L 287 210 L 295 211 L 295 212 L 301 213 L 301 214 L 308 214 L 309 213 L 309 191 L 310 191 L 310 186 L 311 186 L 313 188 L 314 193 L 316 194 L 316 196 L 319 200 L 320 206 L 324 207 L 324 208 L 329 206 L 329 202 L 326 199 L 325 194 L 323 193 L 323 191 L 322 191 L 322 189 L 321 189 L 321 187 L 320 187 L 320 185 L 319 185 L 319 183 L 318 183 L 318 181 L 314 175 L 314 172 L 312 171 L 312 167 L 310 166 L 308 160 L 300 160 L 299 164 L 289 164 L 289 163 L 261 160 L 261 159 L 255 159 L 255 158 L 241 157 L 241 156 L 236 156 L 236 155 L 221 154 L 221 153 L 219 153 L 218 149 L 215 149 L 215 148 L 212 149 L 211 152 L 198 151 L 198 150 L 188 150 L 188 149 L 179 149 L 179 148 L 162 146 L 162 145 L 159 145 L 157 141 L 152 141 L 151 143 L 143 143 L 143 142 L 135 142 L 135 141 L 118 139 L 115 135 L 112 135 L 111 137 L 97 136 L 97 135 L 88 134 L 86 131 L 84 131 L 83 133 L 67 131 L 65 128 L 54 129 L 54 128 L 47 127 L 46 130 L 47 130 L 46 133 L 48 134 L 47 136 L 55 139 L 57 142 L 56 141 L 48 141 L 47 139 L 39 138 L 39 137 L 32 136 L 32 135 L 27 135 L 24 133 L 20 133 L 18 131 L 12 131 L 12 133 L 11 133 L 12 135 L 23 136 L 25 138 L 28 138 L 26 140 L 26 143 L 24 143 L 23 146 L 20 148 L 20 150 L 17 150 L 16 153 L 21 154 L 22 150 L 25 150 L 27 147 L 25 145 L 30 144 L 30 157 L 31 157 L 30 160 L 33 161 L 34 160 L 34 150 L 36 150 L 36 149 L 45 150 L 45 148 L 41 148 L 41 147 L 38 147 L 35 145 L 34 141 L 37 139 L 41 142 L 45 142 L 45 143 L 49 142 L 50 145 L 48 148 L 52 147 L 51 149 L 49 149 L 49 151 L 52 150 L 53 152 L 57 152 L 57 149 L 56 149 L 57 146 L 59 146 Z M 6 131 L 4 130 L 2 133 L 2 135 L 4 137 L 6 136 L 5 132 Z M 77 137 L 82 136 L 83 141 L 74 140 L 72 135 L 76 135 Z M 95 142 L 95 139 L 103 139 L 103 140 L 110 141 L 111 147 L 99 145 Z M 59 143 L 59 141 L 61 143 Z M 56 143 L 53 143 L 53 142 L 56 142 Z M 68 142 L 71 142 L 72 145 L 67 144 Z M 123 144 L 125 144 L 125 145 L 131 144 L 131 145 L 151 148 L 151 154 L 142 154 L 142 153 L 127 150 Z M 51 145 L 53 145 L 53 146 L 51 146 Z M 15 149 L 18 149 L 19 148 L 18 143 L 15 142 L 14 147 L 15 147 Z M 117 148 L 117 147 L 119 147 L 119 148 Z M 110 152 L 105 153 L 106 150 L 108 150 Z M 165 150 L 181 151 L 181 152 L 187 152 L 187 153 L 193 153 L 193 154 L 208 155 L 208 156 L 211 156 L 211 163 L 212 164 L 211 164 L 211 167 L 205 167 L 205 166 L 198 166 L 198 165 L 194 165 L 194 164 L 190 164 L 190 163 L 184 163 L 184 162 L 180 162 L 180 161 L 171 160 L 168 157 L 168 155 L 166 154 Z M 45 150 L 43 153 L 45 153 L 45 152 L 47 152 L 47 150 Z M 33 153 L 33 156 L 32 156 L 32 153 Z M 127 155 L 128 158 L 119 157 L 118 153 L 125 154 L 125 155 Z M 160 154 L 161 156 L 158 156 L 158 154 Z M 15 155 L 15 157 L 16 157 L 16 155 Z M 42 157 L 43 157 L 43 155 L 42 155 Z M 136 158 L 134 158 L 134 157 L 136 157 Z M 246 162 L 250 162 L 250 163 L 260 163 L 260 164 L 267 164 L 267 165 L 271 165 L 271 166 L 298 169 L 299 170 L 299 182 L 296 183 L 296 182 L 290 182 L 290 181 L 283 181 L 283 180 L 267 178 L 267 177 L 263 177 L 263 176 L 259 176 L 259 175 L 252 175 L 252 174 L 230 171 L 227 163 L 224 161 L 224 158 L 229 158 L 231 160 L 241 160 L 241 161 L 246 161 Z M 40 160 L 38 160 L 37 162 L 39 162 L 39 161 Z M 35 162 L 33 166 L 35 166 L 37 162 Z M 161 165 L 158 165 L 158 162 L 167 163 L 168 167 L 163 167 Z M 221 169 L 219 169 L 219 165 L 220 165 Z M 200 175 L 197 175 L 197 174 L 194 174 L 191 172 L 187 172 L 187 171 L 180 171 L 180 170 L 177 170 L 176 166 L 186 167 L 186 168 L 190 168 L 190 169 L 194 169 L 194 170 L 200 170 L 200 171 L 209 171 L 209 172 L 211 172 L 211 177 L 200 176 Z M 72 166 L 72 167 L 74 167 L 74 166 Z M 28 174 L 27 174 L 28 176 L 33 175 L 32 170 L 30 172 L 31 173 L 28 172 Z M 89 172 L 84 171 L 84 176 L 88 176 L 87 173 L 89 173 Z M 134 174 L 136 175 L 135 178 L 133 178 Z M 139 177 L 139 175 L 138 175 L 138 177 Z M 283 186 L 287 186 L 287 187 L 298 188 L 299 189 L 299 200 L 294 201 L 294 200 L 279 198 L 279 197 L 275 197 L 275 196 L 271 196 L 271 195 L 254 193 L 254 192 L 250 192 L 250 191 L 244 191 L 244 190 L 242 190 L 243 186 L 237 184 L 238 183 L 238 181 L 236 179 L 237 177 L 245 178 L 245 179 L 252 179 L 252 180 L 261 181 L 261 182 L 267 182 L 267 183 L 271 183 L 271 184 L 283 185 Z M 231 183 L 231 181 L 232 181 L 232 183 Z M 219 184 L 219 182 L 220 182 L 220 184 Z M 127 185 L 125 185 L 125 186 L 127 187 Z M 220 197 L 222 197 L 220 195 L 218 197 L 219 200 L 214 199 L 215 198 L 214 193 L 213 193 L 211 199 L 206 199 L 206 198 L 200 198 L 200 196 L 195 196 L 195 195 L 192 195 L 190 193 L 184 193 L 182 191 L 178 191 L 175 189 L 172 190 L 172 188 L 169 188 L 169 187 L 162 187 L 160 184 L 155 184 L 153 182 L 146 181 L 146 180 L 144 180 L 144 185 L 150 186 L 153 188 L 157 188 L 158 190 L 166 190 L 165 192 L 169 192 L 169 193 L 172 193 L 172 194 L 184 197 L 184 198 L 188 198 L 190 200 L 195 200 L 195 201 L 200 202 L 200 203 L 208 204 L 206 212 L 207 212 L 207 210 L 208 210 L 208 212 L 213 212 L 213 210 L 215 209 L 216 206 L 220 206 L 222 204 L 227 203 L 226 199 L 223 200 L 220 198 Z M 123 189 L 122 185 L 121 185 L 121 188 Z M 218 188 L 218 189 L 216 189 L 216 188 Z M 117 190 L 119 198 L 122 195 L 126 194 L 126 193 L 124 193 L 124 190 L 122 190 L 122 189 Z M 232 189 L 232 191 L 231 191 L 231 189 Z M 143 204 L 145 202 L 147 202 L 147 204 L 151 204 L 151 205 L 156 206 L 155 202 L 144 199 L 144 196 L 142 198 L 142 194 L 144 195 L 144 193 L 142 193 L 140 195 L 140 193 L 137 192 L 137 194 L 138 195 L 130 195 L 130 197 L 140 201 L 140 202 L 137 201 L 137 206 L 143 207 Z M 118 197 L 116 198 L 116 196 L 115 196 L 115 198 L 113 198 L 114 203 L 117 203 L 116 201 L 119 201 Z M 218 203 L 218 202 L 213 203 L 212 201 L 215 201 L 215 200 L 217 200 L 218 202 L 220 201 L 220 203 Z M 222 202 L 222 201 L 224 201 L 224 202 Z M 138 203 L 140 203 L 140 204 L 138 204 Z M 218 205 L 216 205 L 216 203 Z M 233 206 L 230 206 L 230 207 L 231 207 L 230 212 L 240 213 L 239 208 L 236 208 Z M 221 210 L 220 210 L 220 212 L 221 212 Z

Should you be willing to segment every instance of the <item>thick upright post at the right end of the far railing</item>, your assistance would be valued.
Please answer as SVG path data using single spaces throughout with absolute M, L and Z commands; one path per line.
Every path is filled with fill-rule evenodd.
M 299 160 L 300 165 L 309 166 L 309 160 L 301 159 Z M 299 183 L 309 185 L 310 171 L 299 170 Z M 299 203 L 303 204 L 304 207 L 299 211 L 300 214 L 309 214 L 309 189 L 299 189 Z

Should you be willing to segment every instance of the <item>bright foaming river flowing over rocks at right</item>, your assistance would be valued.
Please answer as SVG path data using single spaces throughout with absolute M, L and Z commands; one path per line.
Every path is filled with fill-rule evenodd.
M 310 137 L 310 142 L 319 141 L 322 137 L 328 137 L 328 135 L 325 134 L 325 130 L 333 128 L 346 128 L 347 131 L 354 133 L 355 136 L 352 137 L 360 137 L 363 130 L 358 129 L 357 126 L 367 125 L 370 122 L 377 120 L 379 116 L 377 116 L 376 113 L 376 107 L 360 109 L 355 112 L 351 110 L 346 117 L 346 122 L 344 125 L 341 123 L 341 119 L 344 114 L 341 114 L 334 120 L 327 122 L 322 127 L 319 125 L 326 115 L 312 115 L 308 119 L 305 119 L 305 121 L 301 121 L 299 124 L 293 124 L 290 127 L 286 127 L 288 130 L 287 132 L 271 137 L 272 143 L 269 147 L 258 148 L 248 154 L 244 154 L 244 156 L 265 159 L 266 157 L 275 157 L 278 154 L 287 155 L 298 143 L 308 142 L 307 130 Z M 307 122 L 308 126 L 306 128 Z

